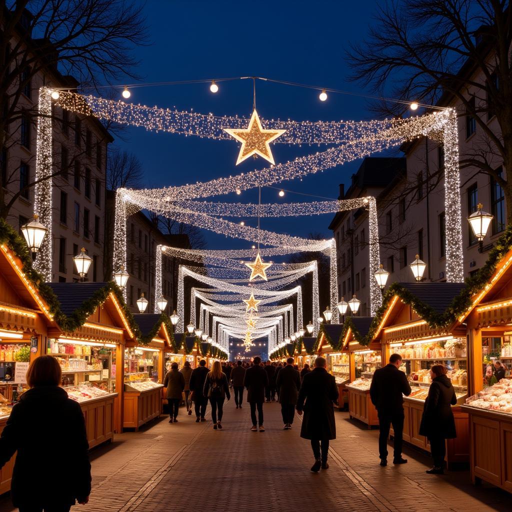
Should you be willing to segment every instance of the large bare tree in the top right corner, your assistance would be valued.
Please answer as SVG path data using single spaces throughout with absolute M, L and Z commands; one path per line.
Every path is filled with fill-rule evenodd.
M 460 165 L 503 188 L 512 222 L 512 9 L 505 0 L 397 0 L 379 8 L 368 39 L 353 45 L 352 79 L 374 92 L 434 104 L 443 94 L 475 119 L 481 136 Z M 483 76 L 475 80 L 473 71 Z M 471 90 L 471 93 L 470 93 Z M 404 106 L 382 102 L 381 114 Z M 499 130 L 487 121 L 496 116 Z M 498 162 L 498 164 L 497 164 Z M 497 165 L 503 162 L 500 174 Z

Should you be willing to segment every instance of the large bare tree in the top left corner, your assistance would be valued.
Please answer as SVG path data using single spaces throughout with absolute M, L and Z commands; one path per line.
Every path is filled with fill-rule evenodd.
M 42 71 L 73 75 L 83 86 L 97 87 L 131 71 L 134 45 L 147 40 L 142 6 L 124 0 L 10 0 L 0 2 L 0 154 L 19 144 L 21 121 L 35 127 L 37 104 L 25 99 L 32 79 Z M 53 116 L 52 116 L 53 117 Z M 5 162 L 3 162 L 5 166 Z M 67 172 L 60 166 L 50 177 Z M 33 187 L 6 193 L 16 169 L 0 173 L 0 217 Z M 47 178 L 45 178 L 47 179 Z

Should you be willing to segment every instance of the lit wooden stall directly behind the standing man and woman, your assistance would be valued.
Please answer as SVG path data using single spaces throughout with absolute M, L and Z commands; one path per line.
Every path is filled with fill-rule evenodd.
M 395 283 L 386 310 L 373 335 L 381 343 L 385 361 L 393 353 L 402 356 L 402 367 L 412 393 L 404 397 L 403 440 L 430 451 L 428 439 L 419 434 L 425 399 L 429 393 L 432 365 L 444 365 L 456 390 L 452 407 L 456 439 L 446 441 L 446 461 L 453 465 L 469 460 L 468 415 L 460 407 L 468 393 L 466 330 L 456 319 L 441 322 L 446 309 L 464 289 L 463 283 Z M 416 310 L 424 311 L 424 317 Z M 438 327 L 432 327 L 433 318 Z M 441 325 L 440 325 L 441 324 Z M 440 326 L 439 326 L 440 325 Z

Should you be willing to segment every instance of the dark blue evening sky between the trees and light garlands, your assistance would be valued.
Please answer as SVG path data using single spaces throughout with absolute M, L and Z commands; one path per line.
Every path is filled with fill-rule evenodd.
M 145 14 L 152 45 L 139 47 L 138 69 L 144 82 L 193 80 L 231 76 L 263 76 L 360 92 L 349 82 L 345 50 L 361 40 L 375 12 L 374 1 L 347 2 L 182 2 L 146 3 Z M 129 80 L 131 81 L 131 80 Z M 250 116 L 252 81 L 220 83 L 217 94 L 207 84 L 147 87 L 132 90 L 129 101 L 179 110 L 193 109 L 215 115 Z M 367 100 L 281 84 L 257 82 L 257 109 L 261 117 L 295 120 L 368 119 Z M 206 181 L 266 166 L 263 159 L 248 159 L 236 166 L 237 141 L 216 141 L 130 129 L 125 142 L 116 144 L 135 153 L 145 171 L 145 186 L 160 187 Z M 322 149 L 325 146 L 322 146 Z M 317 147 L 274 144 L 276 163 Z M 336 199 L 338 184 L 348 183 L 360 161 L 338 166 L 303 181 L 281 185 L 300 193 Z M 263 202 L 279 201 L 278 191 L 264 188 Z M 257 191 L 234 194 L 221 201 L 257 201 Z M 313 198 L 286 194 L 282 201 Z M 306 237 L 311 231 L 332 236 L 331 215 L 304 219 L 263 219 L 262 228 Z M 254 225 L 255 221 L 252 221 Z M 249 223 L 249 222 L 248 222 Z M 246 248 L 249 243 L 205 233 L 208 248 Z

